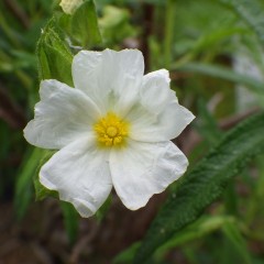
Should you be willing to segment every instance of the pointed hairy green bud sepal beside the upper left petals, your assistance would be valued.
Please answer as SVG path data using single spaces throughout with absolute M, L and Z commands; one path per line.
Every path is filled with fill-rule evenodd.
M 73 54 L 63 40 L 61 32 L 52 19 L 40 37 L 36 46 L 40 79 L 57 79 L 73 86 Z

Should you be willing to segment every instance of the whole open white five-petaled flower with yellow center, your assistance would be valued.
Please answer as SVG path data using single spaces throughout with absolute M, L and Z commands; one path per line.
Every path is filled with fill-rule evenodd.
M 31 144 L 59 150 L 41 168 L 45 187 L 89 217 L 112 187 L 136 210 L 185 173 L 188 161 L 169 140 L 194 116 L 178 105 L 167 70 L 144 75 L 138 50 L 82 51 L 73 79 L 75 88 L 41 82 L 35 118 L 24 129 Z

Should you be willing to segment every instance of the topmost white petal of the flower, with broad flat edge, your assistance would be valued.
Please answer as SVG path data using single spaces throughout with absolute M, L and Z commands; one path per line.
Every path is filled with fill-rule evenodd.
M 128 111 L 139 95 L 144 73 L 144 59 L 138 50 L 114 52 L 81 51 L 73 62 L 75 87 L 85 91 L 100 109 Z M 114 103 L 111 101 L 114 99 Z

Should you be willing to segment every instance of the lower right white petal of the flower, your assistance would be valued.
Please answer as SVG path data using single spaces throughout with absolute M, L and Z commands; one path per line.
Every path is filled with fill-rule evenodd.
M 130 141 L 128 147 L 112 151 L 110 169 L 114 189 L 131 210 L 146 205 L 186 170 L 186 156 L 170 141 Z

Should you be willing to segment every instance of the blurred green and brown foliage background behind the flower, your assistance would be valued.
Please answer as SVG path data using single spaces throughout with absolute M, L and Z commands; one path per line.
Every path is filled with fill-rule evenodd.
M 264 107 L 263 1 L 95 4 L 102 43 L 82 47 L 141 50 L 145 72 L 169 69 L 172 89 L 197 116 L 176 141 L 190 168 L 227 131 Z M 58 1 L 0 2 L 0 263 L 132 263 L 135 242 L 177 184 L 136 212 L 112 194 L 92 219 L 79 219 L 53 198 L 34 201 L 33 179 L 46 157 L 22 131 L 38 100 L 36 44 L 58 13 Z M 73 54 L 81 44 L 69 45 Z M 162 244 L 150 263 L 264 263 L 263 157 L 240 172 L 197 221 Z

